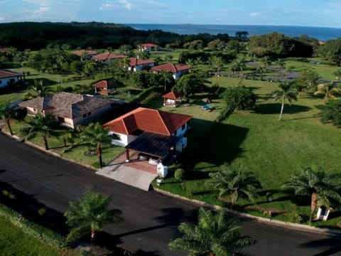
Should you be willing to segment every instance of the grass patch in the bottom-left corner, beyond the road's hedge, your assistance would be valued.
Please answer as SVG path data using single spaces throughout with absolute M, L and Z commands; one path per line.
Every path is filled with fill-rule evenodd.
M 3 256 L 75 256 L 72 250 L 60 250 L 23 233 L 6 218 L 0 217 L 0 251 Z

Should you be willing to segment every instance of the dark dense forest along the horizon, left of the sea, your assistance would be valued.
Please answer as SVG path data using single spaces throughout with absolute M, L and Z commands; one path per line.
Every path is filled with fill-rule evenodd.
M 175 48 L 184 43 L 199 40 L 205 45 L 215 39 L 229 41 L 228 34 L 179 35 L 161 30 L 136 30 L 129 26 L 99 22 L 16 22 L 0 24 L 1 47 L 18 50 L 38 50 L 48 44 L 68 44 L 71 48 L 119 48 L 122 45 L 136 46 L 139 43 L 156 43 L 165 47 L 174 43 Z

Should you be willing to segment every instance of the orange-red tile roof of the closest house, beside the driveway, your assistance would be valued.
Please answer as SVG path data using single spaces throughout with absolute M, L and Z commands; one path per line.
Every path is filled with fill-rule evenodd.
M 133 134 L 136 130 L 170 136 L 192 119 L 187 114 L 177 114 L 139 107 L 118 117 L 103 127 L 120 134 Z

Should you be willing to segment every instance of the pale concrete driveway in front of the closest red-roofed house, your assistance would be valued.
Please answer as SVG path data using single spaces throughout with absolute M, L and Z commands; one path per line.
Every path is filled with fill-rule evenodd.
M 149 190 L 151 181 L 157 176 L 156 174 L 134 169 L 124 164 L 119 166 L 117 170 L 114 170 L 114 166 L 106 166 L 100 171 L 97 171 L 96 174 L 112 178 L 115 181 L 134 186 L 135 188 L 140 188 L 144 191 Z

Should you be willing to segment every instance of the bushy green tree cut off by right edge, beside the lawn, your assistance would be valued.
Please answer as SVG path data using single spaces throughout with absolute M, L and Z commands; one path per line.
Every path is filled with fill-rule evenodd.
M 336 127 L 341 127 L 341 100 L 330 100 L 326 105 L 320 106 L 320 109 L 323 124 L 331 122 Z

